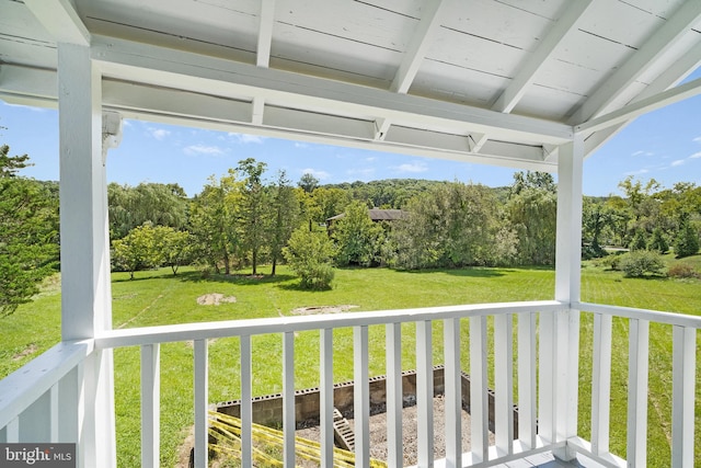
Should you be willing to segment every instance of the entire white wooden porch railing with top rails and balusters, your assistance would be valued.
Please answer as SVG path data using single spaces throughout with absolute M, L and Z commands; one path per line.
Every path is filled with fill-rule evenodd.
M 577 436 L 579 313 L 594 315 L 591 376 L 591 437 Z M 514 336 L 514 318 L 517 332 Z M 333 330 L 352 328 L 354 335 L 354 399 L 356 466 L 369 466 L 370 361 L 368 327 L 386 328 L 388 465 L 402 465 L 402 323 L 415 323 L 418 466 L 486 467 L 553 450 L 571 457 L 583 453 L 612 467 L 627 461 L 609 452 L 609 396 L 611 392 L 611 318 L 630 322 L 628 390 L 628 464 L 644 466 L 647 430 L 647 339 L 650 322 L 674 330 L 674 402 L 671 460 L 675 467 L 694 461 L 696 333 L 701 318 L 640 309 L 558 301 L 493 304 L 411 310 L 307 316 L 279 319 L 189 323 L 114 330 L 92 342 L 62 343 L 0 381 L 0 442 L 71 442 L 77 433 L 81 366 L 94 352 L 119 346 L 141 347 L 141 464 L 159 466 L 160 344 L 194 342 L 195 465 L 207 460 L 208 340 L 240 340 L 242 465 L 252 466 L 252 355 L 251 339 L 283 335 L 283 401 L 285 466 L 295 465 L 295 340 L 296 332 L 320 333 L 320 401 L 322 466 L 333 457 Z M 490 319 L 493 318 L 493 319 Z M 469 322 L 471 450 L 461 441 L 462 321 Z M 433 323 L 443 322 L 445 363 L 446 458 L 434 460 Z M 487 326 L 490 323 L 490 326 Z M 516 359 L 514 351 L 516 350 Z M 487 366 L 493 353 L 494 367 Z M 377 356 L 374 356 L 377 358 Z M 489 375 L 494 387 L 494 445 L 489 440 Z M 516 376 L 516 377 L 514 377 Z M 538 376 L 538 385 L 537 384 Z M 515 398 L 514 378 L 518 393 Z M 66 404 L 68 401 L 70 404 Z M 518 404 L 518 434 L 514 436 L 513 404 Z M 62 418 L 66 416 L 66 418 Z M 581 415 L 585 416 L 585 415 Z M 39 426 L 45 434 L 23 432 Z M 66 426 L 66 427 L 62 427 Z M 64 434 L 64 435 L 61 435 Z M 68 434 L 68 435 L 65 435 Z M 67 440 L 68 438 L 68 440 Z M 73 438 L 72 442 L 78 438 Z M 631 465 L 632 464 L 632 465 Z

